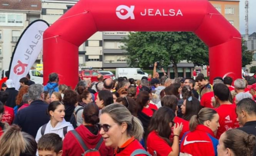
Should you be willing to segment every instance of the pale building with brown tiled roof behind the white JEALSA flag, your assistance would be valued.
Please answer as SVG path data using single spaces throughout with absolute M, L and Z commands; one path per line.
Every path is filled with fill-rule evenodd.
M 0 71 L 9 69 L 11 56 L 23 30 L 40 19 L 40 0 L 0 1 Z M 36 62 L 40 63 L 41 56 Z

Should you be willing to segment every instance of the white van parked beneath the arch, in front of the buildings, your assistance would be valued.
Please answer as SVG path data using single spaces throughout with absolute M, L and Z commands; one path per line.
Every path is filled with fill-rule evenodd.
M 116 68 L 116 79 L 127 77 L 127 79 L 141 80 L 143 76 L 147 77 L 148 74 L 142 71 L 141 68 Z

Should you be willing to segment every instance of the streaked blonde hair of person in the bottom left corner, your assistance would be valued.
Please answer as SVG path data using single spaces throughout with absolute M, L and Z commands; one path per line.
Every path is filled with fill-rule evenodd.
M 21 128 L 18 125 L 9 126 L 0 138 L 0 155 L 19 156 L 27 153 L 36 155 L 37 143 L 34 138 L 21 132 Z

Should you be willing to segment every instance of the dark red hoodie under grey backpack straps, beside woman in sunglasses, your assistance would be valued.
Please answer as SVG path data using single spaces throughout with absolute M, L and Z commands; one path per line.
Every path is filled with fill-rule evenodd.
M 83 141 L 85 145 L 89 149 L 95 148 L 96 144 L 99 142 L 101 135 L 98 134 L 94 135 L 90 132 L 89 129 L 87 129 L 84 125 L 78 126 L 76 129 L 77 133 L 83 138 Z M 80 156 L 83 154 L 85 151 L 83 148 L 80 146 L 78 143 L 77 139 L 75 136 L 71 133 L 68 132 L 65 135 L 64 141 L 63 141 L 63 156 Z M 99 148 L 100 155 L 102 156 L 113 156 L 114 155 L 114 150 L 113 148 L 106 147 L 105 143 L 103 142 Z

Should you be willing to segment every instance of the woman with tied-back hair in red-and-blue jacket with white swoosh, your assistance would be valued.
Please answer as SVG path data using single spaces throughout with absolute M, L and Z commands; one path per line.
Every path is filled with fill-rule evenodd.
M 181 140 L 180 155 L 215 156 L 218 140 L 214 133 L 219 127 L 219 115 L 211 108 L 203 108 L 189 121 L 190 132 Z

